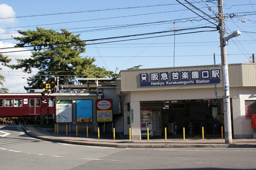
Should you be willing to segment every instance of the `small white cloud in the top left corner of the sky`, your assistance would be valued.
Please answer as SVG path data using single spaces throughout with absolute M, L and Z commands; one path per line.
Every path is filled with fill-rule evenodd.
M 13 11 L 12 7 L 7 4 L 0 4 L 0 16 L 1 18 L 5 17 L 14 17 L 15 12 Z M 9 24 L 9 23 L 15 23 L 15 18 L 6 18 L 6 19 L 0 19 L 1 24 Z

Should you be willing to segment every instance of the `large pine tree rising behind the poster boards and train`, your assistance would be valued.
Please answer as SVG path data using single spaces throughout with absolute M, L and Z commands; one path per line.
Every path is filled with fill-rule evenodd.
M 105 78 L 113 72 L 93 64 L 95 58 L 81 57 L 85 52 L 85 41 L 79 39 L 80 34 L 73 35 L 65 29 L 56 32 L 52 29 L 36 28 L 36 31 L 18 31 L 22 37 L 13 37 L 20 41 L 16 47 L 33 47 L 28 59 L 16 59 L 18 64 L 11 65 L 12 69 L 23 69 L 23 72 L 35 75 L 27 78 L 28 89 L 44 88 L 43 81 L 49 81 L 50 76 L 58 76 L 59 84 L 77 83 L 76 78 Z

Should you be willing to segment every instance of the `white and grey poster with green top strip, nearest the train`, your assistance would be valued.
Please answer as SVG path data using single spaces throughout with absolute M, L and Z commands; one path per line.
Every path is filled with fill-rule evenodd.
M 72 100 L 56 100 L 56 122 L 72 122 Z

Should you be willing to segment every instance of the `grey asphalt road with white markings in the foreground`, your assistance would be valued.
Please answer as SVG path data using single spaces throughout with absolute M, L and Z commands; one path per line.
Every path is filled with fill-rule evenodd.
M 8 134 L 9 133 L 9 134 Z M 108 148 L 34 139 L 0 125 L 0 169 L 256 169 L 256 148 Z

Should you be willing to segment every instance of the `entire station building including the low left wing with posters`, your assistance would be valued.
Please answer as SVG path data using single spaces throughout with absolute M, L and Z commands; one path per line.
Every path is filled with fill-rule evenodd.
M 256 114 L 256 64 L 229 64 L 228 70 L 233 138 L 252 138 L 256 132 L 251 119 Z M 69 117 L 66 113 L 59 117 L 55 114 L 60 130 L 66 125 L 74 131 L 76 126 L 79 131 L 89 127 L 91 132 L 97 132 L 97 128 L 111 132 L 115 128 L 129 135 L 131 128 L 132 139 L 146 136 L 147 129 L 150 136 L 163 135 L 165 128 L 172 135 L 182 134 L 183 128 L 187 134 L 201 134 L 202 127 L 206 134 L 220 133 L 220 126 L 225 130 L 223 119 L 216 120 L 218 114 L 223 114 L 221 65 L 121 70 L 116 79 L 78 81 L 83 85 L 59 85 L 60 90 L 67 89 L 66 93 L 52 94 L 56 101 L 69 100 L 72 106 Z M 112 102 L 111 119 L 108 111 L 102 114 L 97 110 L 99 100 Z M 80 101 L 86 107 L 80 107 Z M 83 118 L 85 109 L 90 110 L 89 118 Z M 107 119 L 102 119 L 105 115 Z

